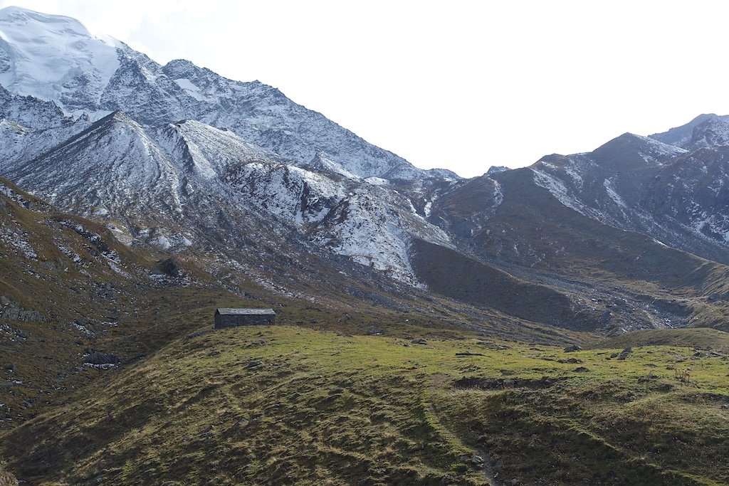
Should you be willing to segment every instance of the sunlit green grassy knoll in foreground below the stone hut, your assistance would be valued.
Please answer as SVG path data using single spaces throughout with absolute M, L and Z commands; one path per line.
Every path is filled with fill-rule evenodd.
M 488 484 L 475 451 L 519 484 L 725 484 L 727 362 L 619 351 L 225 329 L 107 372 L 2 436 L 0 454 L 39 484 Z

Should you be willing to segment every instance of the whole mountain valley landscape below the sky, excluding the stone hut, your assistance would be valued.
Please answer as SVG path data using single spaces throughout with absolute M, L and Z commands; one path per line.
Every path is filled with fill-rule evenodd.
M 729 482 L 728 117 L 463 179 L 0 34 L 0 485 Z

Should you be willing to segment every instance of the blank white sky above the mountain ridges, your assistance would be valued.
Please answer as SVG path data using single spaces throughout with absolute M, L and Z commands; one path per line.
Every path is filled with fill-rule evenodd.
M 461 176 L 729 114 L 729 2 L 0 0 L 259 79 Z

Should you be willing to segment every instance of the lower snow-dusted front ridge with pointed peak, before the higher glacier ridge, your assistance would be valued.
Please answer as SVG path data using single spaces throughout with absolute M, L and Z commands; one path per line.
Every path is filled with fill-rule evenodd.
M 117 111 L 57 130 L 77 133 L 47 152 L 36 150 L 41 154 L 31 160 L 17 158 L 4 172 L 61 208 L 124 222 L 114 228 L 128 240 L 191 246 L 209 238 L 209 222 L 225 208 L 231 223 L 214 232 L 269 239 L 292 232 L 310 248 L 349 256 L 415 285 L 410 238 L 449 244 L 448 235 L 399 192 L 299 168 L 200 122 L 145 128 Z M 279 227 L 273 235 L 272 227 Z

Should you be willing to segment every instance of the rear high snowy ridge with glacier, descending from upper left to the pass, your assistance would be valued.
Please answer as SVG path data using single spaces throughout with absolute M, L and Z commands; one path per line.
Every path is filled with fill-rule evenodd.
M 92 119 L 117 110 L 143 125 L 195 119 L 297 164 L 324 158 L 332 170 L 361 178 L 457 179 L 450 171 L 413 167 L 274 87 L 225 79 L 187 60 L 160 66 L 122 42 L 93 36 L 69 17 L 2 9 L 0 85 Z

